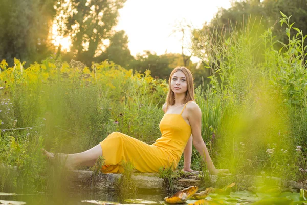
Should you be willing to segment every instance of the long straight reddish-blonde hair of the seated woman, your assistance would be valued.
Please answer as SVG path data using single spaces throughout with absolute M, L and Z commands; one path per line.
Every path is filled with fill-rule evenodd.
M 174 68 L 174 70 L 171 72 L 169 79 L 168 79 L 169 90 L 168 90 L 167 97 L 166 97 L 167 105 L 174 105 L 175 104 L 175 93 L 171 90 L 170 82 L 171 82 L 172 76 L 177 71 L 183 72 L 185 74 L 186 78 L 187 78 L 187 88 L 188 88 L 188 90 L 186 91 L 184 103 L 187 103 L 188 101 L 191 101 L 191 100 L 195 101 L 195 99 L 194 99 L 194 81 L 193 81 L 192 73 L 186 67 L 178 66 L 178 67 Z

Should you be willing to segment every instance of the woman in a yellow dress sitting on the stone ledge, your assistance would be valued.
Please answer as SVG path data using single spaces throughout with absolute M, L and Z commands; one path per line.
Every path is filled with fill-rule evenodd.
M 215 169 L 201 136 L 201 110 L 194 101 L 194 87 L 191 72 L 185 67 L 176 67 L 169 77 L 169 91 L 162 110 L 160 122 L 162 136 L 152 145 L 133 137 L 113 132 L 99 145 L 82 153 L 59 154 L 65 166 L 93 166 L 103 156 L 105 173 L 123 172 L 123 162 L 130 161 L 140 172 L 158 172 L 161 167 L 176 168 L 184 151 L 184 170 L 191 171 L 192 141 L 196 150 L 206 162 L 211 174 L 228 172 Z M 191 134 L 193 133 L 193 137 Z M 45 150 L 44 150 L 45 151 Z M 45 151 L 49 158 L 54 154 Z

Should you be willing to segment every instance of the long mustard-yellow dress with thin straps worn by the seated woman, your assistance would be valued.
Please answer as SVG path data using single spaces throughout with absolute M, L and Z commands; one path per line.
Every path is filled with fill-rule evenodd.
M 183 150 L 191 136 L 191 126 L 180 114 L 168 114 L 167 106 L 165 114 L 160 121 L 161 137 L 152 145 L 148 145 L 138 139 L 113 132 L 102 142 L 102 155 L 104 157 L 104 173 L 123 172 L 123 162 L 133 163 L 140 172 L 158 172 L 160 167 L 177 167 Z

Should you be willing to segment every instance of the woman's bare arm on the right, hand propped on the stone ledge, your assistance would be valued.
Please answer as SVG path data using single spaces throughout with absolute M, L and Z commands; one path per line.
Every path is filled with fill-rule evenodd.
M 219 172 L 228 172 L 228 170 L 217 170 L 213 165 L 213 162 L 211 160 L 211 157 L 209 155 L 209 152 L 201 135 L 201 128 L 202 128 L 201 109 L 195 102 L 189 103 L 186 109 L 188 109 L 188 119 L 193 133 L 193 145 L 195 146 L 196 150 L 200 153 L 200 155 L 203 157 L 204 161 L 206 162 L 209 172 L 211 174 L 218 174 Z

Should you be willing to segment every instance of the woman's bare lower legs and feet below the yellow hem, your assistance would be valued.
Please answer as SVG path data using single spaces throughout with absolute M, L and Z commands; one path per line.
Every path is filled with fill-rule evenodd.
M 51 159 L 54 158 L 53 153 L 47 152 L 46 150 L 43 150 L 43 151 L 48 158 L 51 158 Z M 60 161 L 65 161 L 65 167 L 69 169 L 73 169 L 74 167 L 79 166 L 79 165 L 93 166 L 96 160 L 99 158 L 99 156 L 102 156 L 102 148 L 100 144 L 84 152 L 80 152 L 76 154 L 60 153 L 57 155 Z

